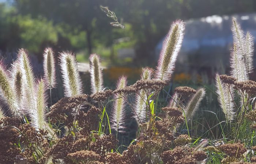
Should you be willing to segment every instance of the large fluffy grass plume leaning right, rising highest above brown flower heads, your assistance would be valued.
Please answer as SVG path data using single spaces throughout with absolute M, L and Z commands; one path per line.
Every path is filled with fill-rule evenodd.
M 182 20 L 176 20 L 163 41 L 163 47 L 159 55 L 156 79 L 170 80 L 174 70 L 175 61 L 180 51 L 184 32 Z

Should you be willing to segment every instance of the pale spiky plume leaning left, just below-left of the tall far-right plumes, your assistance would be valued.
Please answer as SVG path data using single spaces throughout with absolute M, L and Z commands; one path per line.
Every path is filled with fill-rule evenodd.
M 216 93 L 218 95 L 218 101 L 219 104 L 221 105 L 221 109 L 225 114 L 227 121 L 232 121 L 234 120 L 235 117 L 234 104 L 231 97 L 234 95 L 234 89 L 231 86 L 229 91 L 229 88 L 220 79 L 219 74 L 216 75 L 215 81 L 217 88 Z

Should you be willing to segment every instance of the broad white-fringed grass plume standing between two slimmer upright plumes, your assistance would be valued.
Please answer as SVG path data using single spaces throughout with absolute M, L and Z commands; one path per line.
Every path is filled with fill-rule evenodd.
M 59 58 L 65 97 L 82 94 L 82 82 L 74 54 L 61 52 Z

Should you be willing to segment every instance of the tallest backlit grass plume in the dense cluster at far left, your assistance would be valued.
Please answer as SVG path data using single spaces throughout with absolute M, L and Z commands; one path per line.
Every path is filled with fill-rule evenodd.
M 22 73 L 22 81 L 24 82 L 25 99 L 22 100 L 22 107 L 26 109 L 26 112 L 31 113 L 37 106 L 35 96 L 36 87 L 34 73 L 26 50 L 20 49 L 18 51 L 17 62 Z

